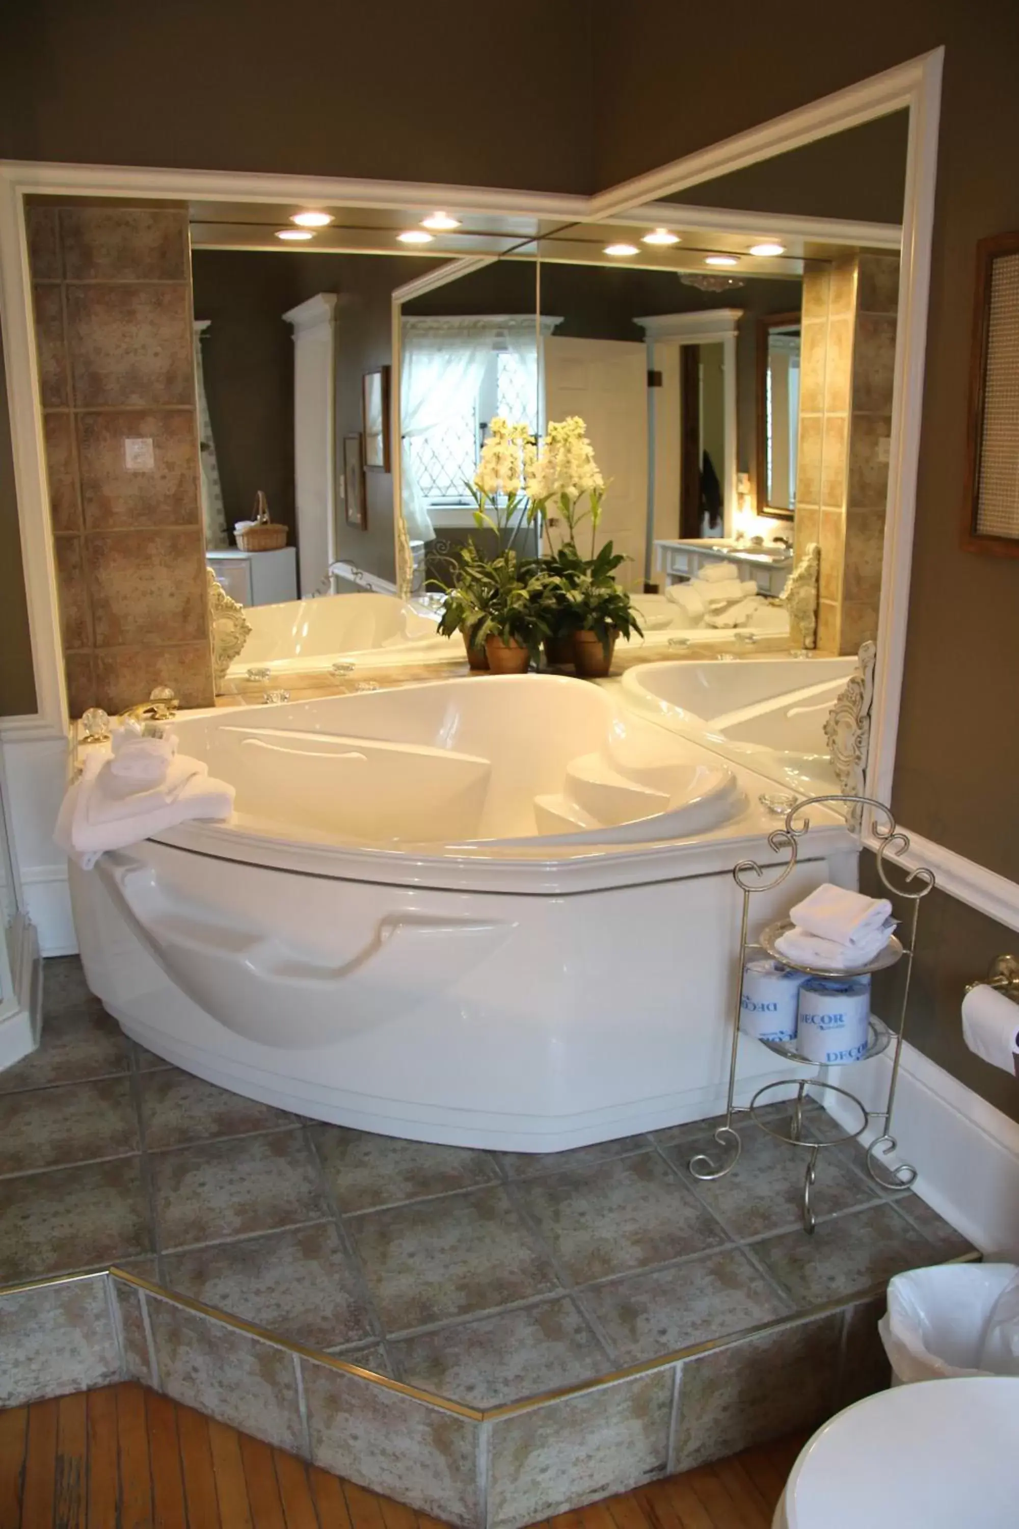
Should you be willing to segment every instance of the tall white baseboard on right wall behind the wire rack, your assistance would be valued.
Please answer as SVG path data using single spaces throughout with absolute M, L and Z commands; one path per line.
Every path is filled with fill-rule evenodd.
M 831 1083 L 859 1095 L 868 1110 L 883 1110 L 891 1050 L 856 1067 L 830 1069 Z M 831 1095 L 827 1096 L 828 1104 Z M 836 1118 L 843 1112 L 831 1110 Z M 854 1113 L 854 1112 L 852 1112 Z M 859 1115 L 852 1124 L 859 1124 Z M 880 1128 L 860 1138 L 869 1145 Z M 898 1075 L 891 1164 L 918 1168 L 914 1185 L 981 1252 L 1019 1260 L 1019 1124 L 987 1104 L 923 1052 L 906 1043 Z

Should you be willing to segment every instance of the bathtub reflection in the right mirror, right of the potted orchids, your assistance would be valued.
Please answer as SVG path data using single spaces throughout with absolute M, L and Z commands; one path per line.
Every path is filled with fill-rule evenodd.
M 839 790 L 823 726 L 856 662 L 643 664 L 623 674 L 622 690 L 639 716 L 813 797 Z

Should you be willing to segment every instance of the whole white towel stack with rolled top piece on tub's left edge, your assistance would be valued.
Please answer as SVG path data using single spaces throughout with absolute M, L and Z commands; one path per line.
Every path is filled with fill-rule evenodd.
M 53 839 L 84 870 L 104 850 L 121 850 L 194 818 L 225 820 L 234 787 L 212 780 L 202 760 L 177 754 L 176 732 L 113 729 L 110 749 L 95 749 L 64 797 Z

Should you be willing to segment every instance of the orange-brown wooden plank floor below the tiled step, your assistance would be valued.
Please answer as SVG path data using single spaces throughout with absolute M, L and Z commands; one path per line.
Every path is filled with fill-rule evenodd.
M 770 1529 L 805 1436 L 541 1529 Z M 0 1413 L 0 1529 L 440 1529 L 139 1385 Z

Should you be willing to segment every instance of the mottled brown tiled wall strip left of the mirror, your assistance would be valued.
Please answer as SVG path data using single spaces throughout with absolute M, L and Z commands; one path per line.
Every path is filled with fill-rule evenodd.
M 37 205 L 29 258 L 70 714 L 208 705 L 188 211 Z

